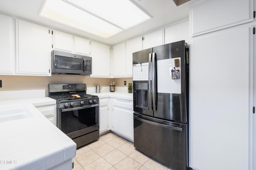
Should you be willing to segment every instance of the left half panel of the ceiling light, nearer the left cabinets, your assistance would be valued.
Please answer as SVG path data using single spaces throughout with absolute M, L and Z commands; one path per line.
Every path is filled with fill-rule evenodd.
M 122 29 L 62 0 L 46 0 L 40 15 L 104 38 L 122 31 Z

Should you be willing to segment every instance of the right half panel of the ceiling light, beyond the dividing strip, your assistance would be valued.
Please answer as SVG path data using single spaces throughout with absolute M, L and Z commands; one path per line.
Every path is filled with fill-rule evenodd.
M 130 0 L 66 0 L 122 29 L 150 19 Z

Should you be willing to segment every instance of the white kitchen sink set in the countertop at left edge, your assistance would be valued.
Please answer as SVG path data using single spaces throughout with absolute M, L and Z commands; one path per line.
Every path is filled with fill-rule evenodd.
M 24 119 L 31 116 L 32 115 L 25 106 L 0 109 L 0 122 Z

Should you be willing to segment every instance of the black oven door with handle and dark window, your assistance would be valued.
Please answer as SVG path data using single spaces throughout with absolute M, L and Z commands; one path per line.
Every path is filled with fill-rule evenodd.
M 58 109 L 57 126 L 71 139 L 97 131 L 99 104 Z

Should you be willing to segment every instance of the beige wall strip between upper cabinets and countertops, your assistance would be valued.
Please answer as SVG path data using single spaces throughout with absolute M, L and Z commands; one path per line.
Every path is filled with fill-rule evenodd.
M 124 81 L 132 81 L 132 78 L 90 78 L 80 75 L 57 75 L 52 76 L 5 76 L 0 75 L 2 90 L 34 90 L 45 89 L 48 94 L 48 84 L 58 83 L 86 83 L 87 87 L 109 86 L 109 82 L 116 81 L 116 86 L 124 86 Z M 127 86 L 126 85 L 126 86 Z

